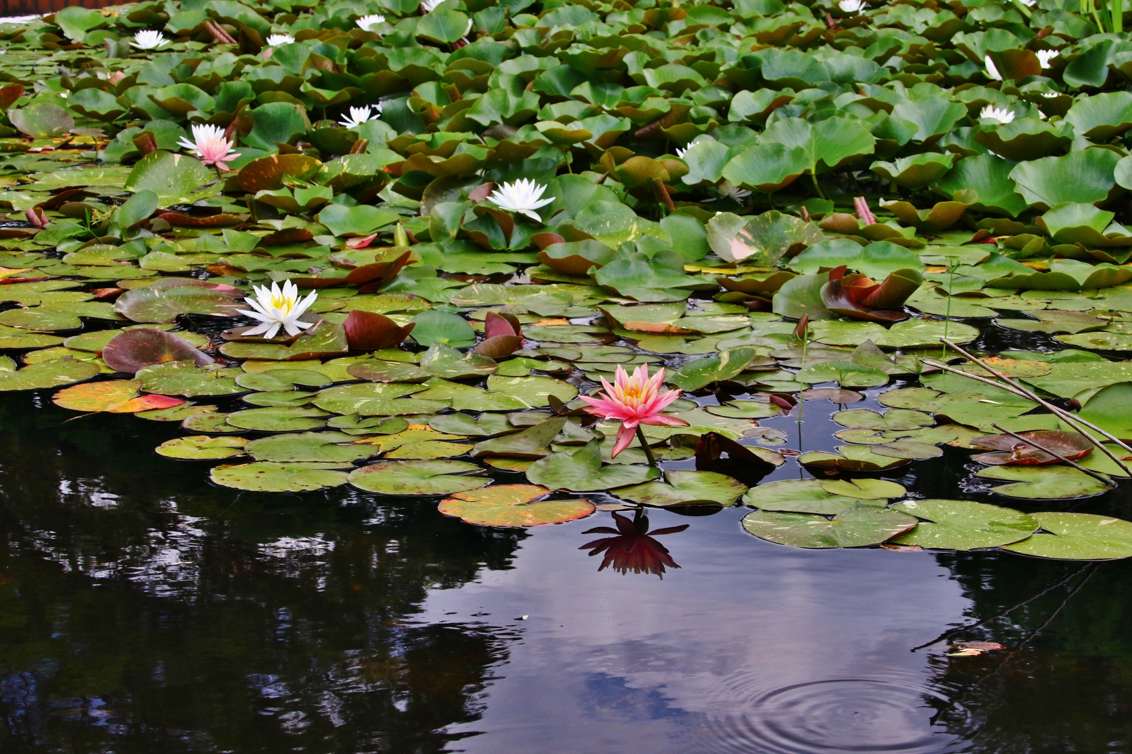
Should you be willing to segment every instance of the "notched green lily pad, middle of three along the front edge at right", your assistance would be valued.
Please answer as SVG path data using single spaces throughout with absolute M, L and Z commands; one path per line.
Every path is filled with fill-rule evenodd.
M 924 519 L 915 529 L 893 539 L 898 545 L 945 549 L 1000 547 L 1026 539 L 1038 529 L 1038 521 L 1026 513 L 970 500 L 908 500 L 892 510 Z

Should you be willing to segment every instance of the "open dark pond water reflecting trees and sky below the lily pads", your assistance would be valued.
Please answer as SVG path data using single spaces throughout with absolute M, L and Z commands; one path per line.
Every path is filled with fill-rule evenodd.
M 830 448 L 837 408 L 806 402 L 800 442 L 764 424 Z M 661 538 L 681 567 L 621 575 L 578 549 L 608 513 L 489 530 L 240 493 L 153 452 L 178 434 L 0 398 L 6 754 L 1132 752 L 1127 561 L 803 551 L 735 508 L 653 512 L 691 525 Z M 969 454 L 897 480 L 1003 503 Z M 1017 506 L 1132 518 L 1126 487 Z M 1006 651 L 910 651 L 983 619 L 957 638 Z

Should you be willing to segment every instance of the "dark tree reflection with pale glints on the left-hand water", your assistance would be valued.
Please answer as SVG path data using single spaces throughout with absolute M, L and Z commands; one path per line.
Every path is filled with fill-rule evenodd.
M 179 427 L 0 402 L 0 751 L 439 752 L 514 631 L 413 622 L 522 531 L 344 489 L 258 495 Z

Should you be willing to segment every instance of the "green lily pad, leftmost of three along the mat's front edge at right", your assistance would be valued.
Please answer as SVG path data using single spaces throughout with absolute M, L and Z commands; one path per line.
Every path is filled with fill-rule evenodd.
M 916 526 L 916 519 L 881 505 L 854 504 L 832 519 L 813 513 L 754 511 L 743 517 L 748 532 L 792 547 L 866 547 Z

